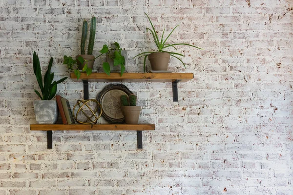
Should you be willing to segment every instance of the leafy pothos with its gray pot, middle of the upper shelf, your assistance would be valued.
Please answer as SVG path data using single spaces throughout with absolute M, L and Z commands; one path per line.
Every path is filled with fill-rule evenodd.
M 110 75 L 110 72 L 119 72 L 123 75 L 126 66 L 127 52 L 120 48 L 118 42 L 114 42 L 113 46 L 104 45 L 100 53 L 106 55 L 106 61 L 103 63 L 104 72 Z M 118 68 L 117 68 L 118 67 Z

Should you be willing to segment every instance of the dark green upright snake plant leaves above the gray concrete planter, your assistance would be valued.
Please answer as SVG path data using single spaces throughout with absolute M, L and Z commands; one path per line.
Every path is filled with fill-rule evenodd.
M 58 81 L 53 81 L 54 73 L 51 73 L 52 64 L 53 64 L 53 58 L 51 57 L 49 65 L 48 65 L 48 69 L 44 75 L 44 81 L 42 81 L 40 60 L 36 52 L 34 52 L 34 55 L 33 55 L 34 74 L 36 75 L 39 87 L 42 92 L 42 96 L 36 89 L 35 89 L 35 92 L 42 100 L 51 100 L 52 98 L 54 98 L 57 92 L 57 84 L 63 82 L 67 78 L 67 77 L 64 77 Z

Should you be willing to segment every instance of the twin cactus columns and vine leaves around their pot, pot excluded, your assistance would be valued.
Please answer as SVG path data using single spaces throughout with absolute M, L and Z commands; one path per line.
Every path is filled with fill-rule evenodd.
M 87 55 L 92 55 L 93 48 L 94 48 L 94 42 L 95 42 L 95 34 L 96 34 L 96 17 L 92 17 L 90 21 L 90 32 L 89 32 L 89 42 L 88 42 L 88 48 L 87 48 Z M 83 32 L 82 32 L 82 40 L 81 40 L 81 54 L 85 54 L 85 42 L 87 37 L 87 21 L 84 20 L 83 22 Z M 90 75 L 92 73 L 92 69 L 87 67 L 87 61 L 92 60 L 85 60 L 83 57 L 79 56 L 77 59 L 73 59 L 71 56 L 67 57 L 64 56 L 64 62 L 63 64 L 67 64 L 67 69 L 74 72 L 77 79 L 80 78 L 81 72 L 78 69 L 77 62 L 84 64 L 83 72 L 86 72 L 86 75 Z M 98 57 L 97 57 L 98 58 Z M 96 58 L 95 58 L 96 59 Z

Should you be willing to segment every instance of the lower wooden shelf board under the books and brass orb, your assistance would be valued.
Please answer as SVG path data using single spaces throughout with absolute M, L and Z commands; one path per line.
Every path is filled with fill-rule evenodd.
M 31 131 L 151 131 L 154 124 L 32 124 Z

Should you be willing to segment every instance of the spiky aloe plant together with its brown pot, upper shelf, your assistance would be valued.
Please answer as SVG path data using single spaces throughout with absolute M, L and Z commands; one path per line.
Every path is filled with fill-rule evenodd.
M 146 13 L 145 13 L 146 14 Z M 202 49 L 202 48 L 199 48 L 199 47 L 196 47 L 194 45 L 190 45 L 190 44 L 187 44 L 187 43 L 174 43 L 174 44 L 167 44 L 166 41 L 167 39 L 170 37 L 170 35 L 174 32 L 174 30 L 179 26 L 175 26 L 173 28 L 173 30 L 169 33 L 169 35 L 167 36 L 166 39 L 164 39 L 164 33 L 165 33 L 165 29 L 163 31 L 163 34 L 162 34 L 162 37 L 161 39 L 159 39 L 158 37 L 158 34 L 155 30 L 155 27 L 154 25 L 152 24 L 150 18 L 148 17 L 148 15 L 146 14 L 146 17 L 151 25 L 151 28 L 146 28 L 146 31 L 150 31 L 151 34 L 152 34 L 152 37 L 154 39 L 154 42 L 157 46 L 157 51 L 150 51 L 150 52 L 143 52 L 143 53 L 140 53 L 138 55 L 136 55 L 135 57 L 133 58 L 136 58 L 136 57 L 142 57 L 144 56 L 144 71 L 146 72 L 146 57 L 148 57 L 148 60 L 150 61 L 150 65 L 151 65 L 151 69 L 152 70 L 155 70 L 155 71 L 166 71 L 167 68 L 168 68 L 168 63 L 169 63 L 169 60 L 170 60 L 170 56 L 178 59 L 181 61 L 181 63 L 184 65 L 185 67 L 185 63 L 182 61 L 182 59 L 179 58 L 179 56 L 181 57 L 184 57 L 183 54 L 180 54 L 180 53 L 176 53 L 176 52 L 169 52 L 167 51 L 166 49 L 168 47 L 172 47 L 173 49 L 177 50 L 177 48 L 175 46 L 177 45 L 187 45 L 187 46 L 190 46 L 190 47 L 195 47 L 197 49 Z

